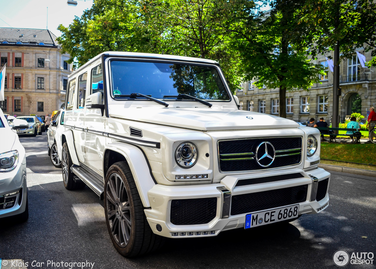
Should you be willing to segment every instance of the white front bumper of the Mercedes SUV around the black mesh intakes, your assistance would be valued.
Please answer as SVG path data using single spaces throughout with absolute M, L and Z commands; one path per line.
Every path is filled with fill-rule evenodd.
M 302 177 L 236 186 L 238 180 L 257 179 L 262 177 L 272 178 L 273 176 L 284 176 L 296 173 L 300 173 Z M 327 184 L 325 185 L 323 184 L 325 183 L 323 180 L 326 179 Z M 320 183 L 320 181 L 322 181 L 322 183 Z M 148 192 L 151 208 L 145 209 L 144 212 L 147 221 L 155 234 L 172 238 L 215 236 L 221 231 L 244 227 L 246 215 L 253 213 L 242 212 L 241 214 L 231 215 L 231 210 L 233 210 L 231 208 L 233 196 L 258 192 L 270 193 L 268 191 L 273 192 L 273 190 L 278 191 L 279 189 L 285 188 L 293 189 L 294 187 L 299 188 L 299 186 L 306 185 L 306 196 L 301 199 L 301 202 L 299 202 L 299 215 L 314 214 L 326 209 L 328 206 L 329 195 L 327 194 L 327 190 L 329 188 L 329 183 L 330 173 L 326 172 L 324 169 L 316 168 L 308 172 L 301 169 L 287 169 L 262 172 L 257 175 L 231 175 L 224 177 L 220 183 L 217 184 L 191 186 L 163 186 L 157 184 Z M 321 186 L 321 189 L 320 187 L 318 189 L 318 186 Z M 326 186 L 326 190 L 323 189 L 322 186 Z M 316 196 L 320 196 L 319 201 L 316 200 Z M 217 198 L 215 216 L 205 224 L 174 225 L 171 223 L 171 201 L 196 198 Z M 271 200 L 273 200 L 273 197 Z M 284 204 L 283 206 L 289 205 L 292 204 Z M 278 207 L 279 206 L 264 208 L 262 210 L 256 210 L 255 212 Z M 189 212 L 189 210 L 185 210 L 185 212 L 195 214 L 195 212 Z

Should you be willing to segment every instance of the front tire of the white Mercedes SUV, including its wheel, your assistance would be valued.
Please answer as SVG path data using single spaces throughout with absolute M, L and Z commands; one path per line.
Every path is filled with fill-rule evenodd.
M 108 169 L 104 206 L 111 241 L 124 257 L 143 255 L 163 245 L 165 238 L 154 234 L 147 222 L 132 172 L 126 162 L 114 163 Z

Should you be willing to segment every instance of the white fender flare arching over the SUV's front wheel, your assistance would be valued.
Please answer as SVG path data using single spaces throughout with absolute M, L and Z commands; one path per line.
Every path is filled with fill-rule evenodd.
M 121 142 L 107 144 L 103 156 L 105 156 L 106 150 L 116 151 L 125 157 L 130 171 L 132 172 L 133 179 L 135 180 L 143 206 L 151 207 L 147 192 L 152 189 L 156 183 L 152 177 L 149 163 L 143 151 L 139 147 Z M 132 158 L 130 156 L 132 156 Z

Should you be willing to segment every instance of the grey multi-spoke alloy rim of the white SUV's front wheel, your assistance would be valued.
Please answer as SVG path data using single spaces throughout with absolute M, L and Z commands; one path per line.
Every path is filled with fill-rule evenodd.
M 107 181 L 106 202 L 111 233 L 116 243 L 121 247 L 125 247 L 129 242 L 132 215 L 130 213 L 127 190 L 123 180 L 117 173 L 111 174 Z

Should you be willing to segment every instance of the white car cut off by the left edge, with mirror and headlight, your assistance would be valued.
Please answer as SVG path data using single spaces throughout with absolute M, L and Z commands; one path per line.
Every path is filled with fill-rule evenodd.
M 22 119 L 14 119 L 13 126 L 9 126 L 0 110 L 0 218 L 14 215 L 19 221 L 29 218 L 25 149 L 12 131 L 28 126 Z

